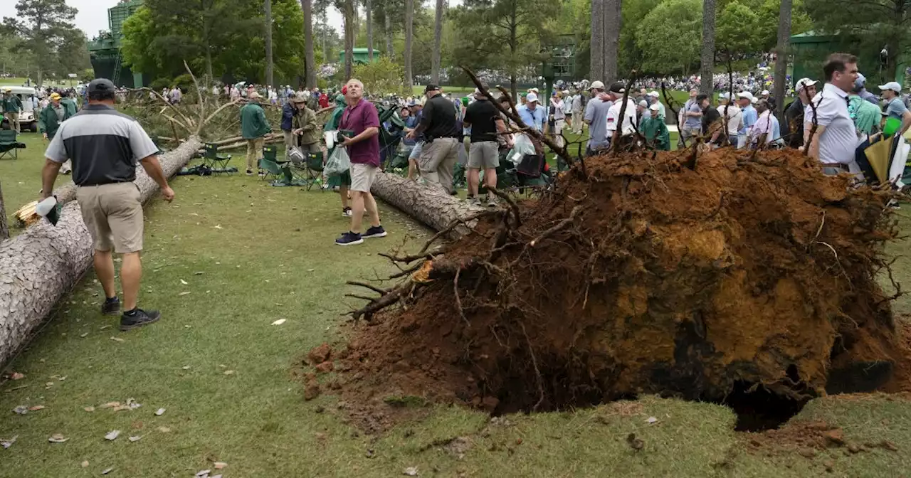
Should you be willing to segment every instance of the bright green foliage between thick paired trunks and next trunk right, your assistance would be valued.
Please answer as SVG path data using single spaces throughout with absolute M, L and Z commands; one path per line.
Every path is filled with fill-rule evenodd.
M 681 71 L 699 64 L 702 31 L 700 0 L 664 0 L 636 28 L 636 45 L 646 72 Z

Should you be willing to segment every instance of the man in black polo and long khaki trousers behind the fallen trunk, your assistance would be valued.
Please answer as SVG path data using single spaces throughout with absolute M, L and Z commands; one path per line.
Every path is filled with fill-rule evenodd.
M 424 116 L 415 130 L 408 133 L 408 138 L 414 139 L 422 133 L 426 137 L 421 156 L 417 159 L 421 178 L 428 184 L 441 186 L 449 194 L 455 194 L 453 167 L 461 146 L 458 137 L 462 135 L 456 125 L 455 107 L 440 94 L 439 86 L 427 85 L 424 91 L 427 96 Z

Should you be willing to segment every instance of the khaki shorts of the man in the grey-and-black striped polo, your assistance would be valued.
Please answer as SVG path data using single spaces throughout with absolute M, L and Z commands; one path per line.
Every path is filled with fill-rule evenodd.
M 142 201 L 135 183 L 80 186 L 76 199 L 96 250 L 142 250 Z

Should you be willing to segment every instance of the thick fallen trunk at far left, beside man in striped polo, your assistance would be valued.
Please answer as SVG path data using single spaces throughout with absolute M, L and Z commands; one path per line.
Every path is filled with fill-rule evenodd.
M 159 157 L 165 175 L 177 173 L 201 146 L 199 137 L 190 137 L 187 143 Z M 159 190 L 141 167 L 136 185 L 143 202 Z M 92 262 L 92 239 L 79 205 L 72 200 L 76 188 L 70 182 L 68 188 L 55 192 L 58 200 L 69 202 L 56 226 L 41 220 L 14 239 L 0 243 L 0 364 L 26 343 Z

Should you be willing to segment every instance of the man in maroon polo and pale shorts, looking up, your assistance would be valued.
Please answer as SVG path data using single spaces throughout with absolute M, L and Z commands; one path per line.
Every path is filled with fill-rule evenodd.
M 348 104 L 342 113 L 339 129 L 354 132 L 353 137 L 346 137 L 341 143 L 348 148 L 351 158 L 351 230 L 341 238 L 335 239 L 339 246 L 361 244 L 363 238 L 382 238 L 386 235 L 380 225 L 380 212 L 376 208 L 374 195 L 370 187 L 374 184 L 376 172 L 380 168 L 380 117 L 374 104 L 363 99 L 363 83 L 356 79 L 348 80 L 345 86 L 345 103 Z M 371 228 L 361 234 L 363 209 L 370 215 Z

